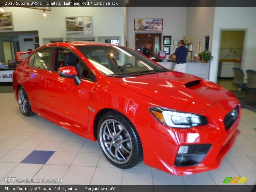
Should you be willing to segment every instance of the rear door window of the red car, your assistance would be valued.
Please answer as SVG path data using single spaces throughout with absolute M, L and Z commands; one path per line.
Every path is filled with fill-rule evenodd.
M 33 67 L 52 70 L 50 53 L 51 48 L 41 49 L 36 52 Z

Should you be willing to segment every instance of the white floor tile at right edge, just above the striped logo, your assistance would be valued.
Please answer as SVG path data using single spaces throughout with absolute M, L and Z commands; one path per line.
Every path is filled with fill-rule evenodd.
M 226 157 L 236 171 L 256 171 L 256 164 L 249 157 Z

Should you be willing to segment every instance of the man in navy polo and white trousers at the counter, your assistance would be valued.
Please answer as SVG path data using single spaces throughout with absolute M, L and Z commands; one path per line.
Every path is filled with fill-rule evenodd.
M 176 65 L 174 66 L 174 71 L 179 71 L 185 73 L 187 64 L 188 49 L 184 46 L 184 41 L 179 41 L 179 47 L 175 50 L 174 54 L 170 55 L 171 59 L 176 59 Z

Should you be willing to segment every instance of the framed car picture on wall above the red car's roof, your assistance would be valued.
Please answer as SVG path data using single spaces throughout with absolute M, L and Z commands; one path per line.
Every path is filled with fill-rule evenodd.
M 92 35 L 92 16 L 65 17 L 67 35 Z

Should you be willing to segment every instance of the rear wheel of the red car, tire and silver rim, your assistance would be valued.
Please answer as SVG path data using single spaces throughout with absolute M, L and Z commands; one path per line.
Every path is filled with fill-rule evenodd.
M 35 113 L 31 110 L 30 101 L 28 99 L 28 95 L 23 87 L 18 89 L 18 104 L 21 113 L 24 116 L 31 116 Z

